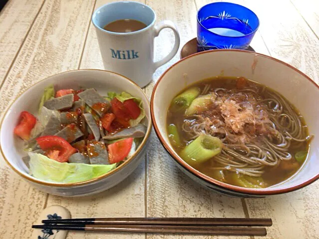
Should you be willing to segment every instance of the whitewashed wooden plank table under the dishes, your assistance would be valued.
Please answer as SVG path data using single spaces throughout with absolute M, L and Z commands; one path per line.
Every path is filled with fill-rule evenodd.
M 197 10 L 211 2 L 141 1 L 155 10 L 157 21 L 170 19 L 177 24 L 181 46 L 196 36 Z M 251 8 L 260 17 L 261 25 L 251 44 L 257 52 L 286 61 L 319 82 L 318 0 L 232 1 Z M 44 77 L 73 69 L 103 69 L 90 18 L 95 8 L 107 2 L 110 0 L 9 0 L 0 12 L 0 118 L 20 92 Z M 172 32 L 161 32 L 156 39 L 157 59 L 170 51 L 173 41 Z M 178 59 L 179 53 L 155 72 L 153 81 L 145 88 L 148 97 L 158 77 Z M 73 218 L 267 217 L 274 222 L 268 228 L 268 239 L 319 238 L 319 181 L 297 192 L 264 199 L 221 196 L 180 172 L 154 132 L 145 161 L 130 177 L 106 192 L 84 198 L 41 193 L 15 174 L 1 157 L 1 239 L 30 238 L 32 223 L 50 205 L 68 208 Z M 69 232 L 67 238 L 193 237 Z

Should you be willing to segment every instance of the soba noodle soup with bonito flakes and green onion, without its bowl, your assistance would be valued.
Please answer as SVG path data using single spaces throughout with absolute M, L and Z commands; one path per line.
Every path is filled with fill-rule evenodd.
M 269 187 L 294 175 L 312 138 L 287 99 L 243 77 L 189 86 L 171 102 L 167 126 L 172 146 L 186 163 L 246 188 Z

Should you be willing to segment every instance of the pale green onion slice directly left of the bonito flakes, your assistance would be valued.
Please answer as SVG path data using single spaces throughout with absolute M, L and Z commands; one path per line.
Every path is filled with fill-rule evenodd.
M 216 95 L 212 92 L 207 95 L 201 95 L 194 99 L 191 105 L 186 110 L 186 115 L 198 114 L 205 111 L 213 101 L 216 99 Z

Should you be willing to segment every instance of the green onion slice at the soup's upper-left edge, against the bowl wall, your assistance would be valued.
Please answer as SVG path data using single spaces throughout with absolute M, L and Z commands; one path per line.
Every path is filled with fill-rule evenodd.
M 183 93 L 179 94 L 173 99 L 173 105 L 171 109 L 173 111 L 185 110 L 192 101 L 199 95 L 199 87 L 191 87 L 185 90 Z

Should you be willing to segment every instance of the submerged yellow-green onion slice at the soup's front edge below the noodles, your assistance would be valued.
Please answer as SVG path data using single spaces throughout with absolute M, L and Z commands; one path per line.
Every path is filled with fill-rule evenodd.
M 239 173 L 233 173 L 232 179 L 236 186 L 243 188 L 262 189 L 266 188 L 266 184 L 262 177 L 252 177 Z

